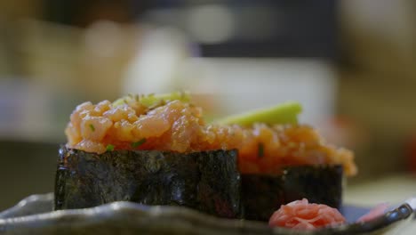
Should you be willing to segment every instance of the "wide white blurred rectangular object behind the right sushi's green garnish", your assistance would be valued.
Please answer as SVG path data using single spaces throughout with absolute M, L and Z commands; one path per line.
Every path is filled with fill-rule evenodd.
M 329 63 L 314 59 L 191 58 L 182 87 L 219 97 L 224 114 L 300 101 L 300 121 L 322 124 L 332 116 L 336 77 Z

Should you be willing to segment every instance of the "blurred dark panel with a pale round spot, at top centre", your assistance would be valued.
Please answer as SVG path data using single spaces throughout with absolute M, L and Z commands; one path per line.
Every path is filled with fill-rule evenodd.
M 336 54 L 337 3 L 177 1 L 144 20 L 187 32 L 202 56 L 327 58 Z

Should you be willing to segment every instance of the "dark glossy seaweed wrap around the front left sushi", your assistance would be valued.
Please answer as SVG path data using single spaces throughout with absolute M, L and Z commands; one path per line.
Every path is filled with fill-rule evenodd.
M 95 207 L 125 200 L 195 208 L 241 217 L 236 150 L 180 154 L 115 150 L 102 154 L 60 149 L 55 209 Z

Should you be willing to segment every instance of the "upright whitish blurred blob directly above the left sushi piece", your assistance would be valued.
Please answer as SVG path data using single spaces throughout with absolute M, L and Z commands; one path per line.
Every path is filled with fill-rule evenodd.
M 122 93 L 164 93 L 177 84 L 180 63 L 188 58 L 186 39 L 173 28 L 148 28 L 127 69 Z

